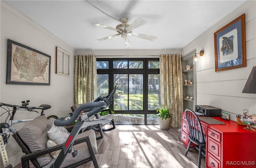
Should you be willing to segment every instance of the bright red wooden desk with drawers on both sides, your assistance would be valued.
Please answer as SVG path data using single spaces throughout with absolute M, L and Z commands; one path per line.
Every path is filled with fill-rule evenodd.
M 201 121 L 206 134 L 206 168 L 256 168 L 256 131 L 245 130 L 232 120 L 225 125 L 210 125 Z M 188 146 L 188 126 L 182 112 L 181 140 Z

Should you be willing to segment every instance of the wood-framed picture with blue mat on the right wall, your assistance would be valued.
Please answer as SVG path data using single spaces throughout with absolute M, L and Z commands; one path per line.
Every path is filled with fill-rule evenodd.
M 215 72 L 246 67 L 245 14 L 214 33 Z

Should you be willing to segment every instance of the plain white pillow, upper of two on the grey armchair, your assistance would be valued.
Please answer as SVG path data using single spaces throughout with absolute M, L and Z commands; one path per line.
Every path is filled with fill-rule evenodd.
M 70 134 L 68 130 L 63 126 L 55 126 L 55 125 L 53 125 L 52 128 L 50 128 L 50 130 L 47 133 L 50 140 L 53 140 L 58 145 L 66 142 Z

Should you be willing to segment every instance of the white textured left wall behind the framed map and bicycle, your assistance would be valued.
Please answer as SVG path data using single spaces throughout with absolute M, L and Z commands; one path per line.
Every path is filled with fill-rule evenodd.
M 74 64 L 74 48 L 20 14 L 5 2 L 1 1 L 1 47 L 0 47 L 0 101 L 8 104 L 20 105 L 22 100 L 30 100 L 31 106 L 50 104 L 52 108 L 45 111 L 45 115 L 65 116 L 71 112 L 74 104 L 74 70 L 70 76 L 55 74 L 55 48 L 59 46 L 71 54 L 71 65 Z M 7 39 L 14 40 L 51 56 L 50 86 L 14 85 L 6 84 Z M 2 109 L 1 109 L 2 114 Z M 19 112 L 16 119 L 35 118 L 36 112 Z M 5 117 L 1 117 L 3 122 Z M 20 128 L 22 124 L 16 124 Z M 18 144 L 11 140 L 7 152 L 12 166 L 21 160 L 22 151 Z

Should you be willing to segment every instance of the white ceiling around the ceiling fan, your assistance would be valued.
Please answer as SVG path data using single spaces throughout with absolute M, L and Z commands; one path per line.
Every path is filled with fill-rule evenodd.
M 113 18 L 147 21 L 133 30 L 157 36 L 155 42 L 128 36 L 132 49 L 182 48 L 246 0 L 90 0 Z M 7 0 L 10 6 L 75 49 L 125 49 L 121 36 L 96 42 L 117 32 L 92 26 L 99 22 L 116 28 L 118 20 L 86 0 Z

